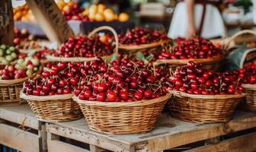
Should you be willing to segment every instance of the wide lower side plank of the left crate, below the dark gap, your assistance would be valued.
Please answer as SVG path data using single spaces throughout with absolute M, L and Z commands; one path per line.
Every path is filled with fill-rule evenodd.
M 0 144 L 26 152 L 39 151 L 37 135 L 5 124 L 0 124 L 0 131 Z

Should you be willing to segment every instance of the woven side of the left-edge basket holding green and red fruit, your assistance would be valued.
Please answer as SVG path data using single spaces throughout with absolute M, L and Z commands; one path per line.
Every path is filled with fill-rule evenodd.
M 21 104 L 21 98 L 19 97 L 21 88 L 22 84 L 0 86 L 0 105 L 8 106 Z

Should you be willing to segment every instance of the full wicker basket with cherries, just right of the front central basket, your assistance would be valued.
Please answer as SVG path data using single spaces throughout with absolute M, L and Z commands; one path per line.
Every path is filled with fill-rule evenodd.
M 217 73 L 188 62 L 172 78 L 169 104 L 171 114 L 179 119 L 199 122 L 226 122 L 244 95 L 237 71 Z

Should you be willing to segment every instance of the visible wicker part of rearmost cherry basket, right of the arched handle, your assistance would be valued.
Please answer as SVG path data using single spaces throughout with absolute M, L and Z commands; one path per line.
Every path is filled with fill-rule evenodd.
M 118 48 L 126 53 L 133 53 L 133 52 L 139 52 L 146 49 L 152 49 L 156 48 L 158 46 L 162 46 L 165 43 L 170 43 L 172 40 L 160 40 L 155 43 L 149 43 L 149 44 L 141 44 L 141 45 L 123 45 L 120 44 Z

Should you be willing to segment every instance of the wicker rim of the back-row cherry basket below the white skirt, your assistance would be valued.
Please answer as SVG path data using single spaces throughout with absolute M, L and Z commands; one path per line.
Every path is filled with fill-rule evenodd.
M 154 62 L 155 65 L 157 64 L 174 64 L 174 65 L 186 65 L 187 62 L 195 62 L 195 63 L 214 63 L 214 62 L 220 62 L 224 59 L 224 55 L 219 55 L 213 58 L 207 58 L 207 59 L 158 59 Z

